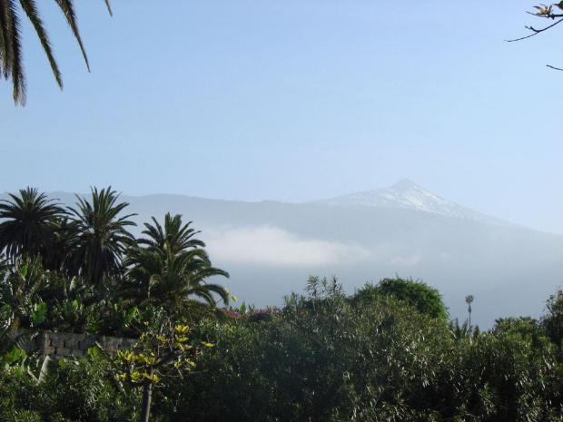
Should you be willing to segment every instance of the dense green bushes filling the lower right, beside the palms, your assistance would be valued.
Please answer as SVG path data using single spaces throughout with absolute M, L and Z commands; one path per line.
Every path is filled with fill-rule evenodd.
M 199 363 L 201 375 L 173 387 L 185 391 L 174 402 L 179 414 L 209 421 L 563 417 L 560 349 L 535 321 L 505 320 L 459 339 L 449 324 L 404 302 L 358 306 L 335 280 L 315 295 L 292 295 L 271 316 L 242 316 L 206 333 L 217 348 Z

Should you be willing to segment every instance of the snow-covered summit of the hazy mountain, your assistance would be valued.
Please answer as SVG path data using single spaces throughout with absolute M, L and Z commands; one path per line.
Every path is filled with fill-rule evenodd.
M 400 208 L 494 225 L 515 226 L 509 221 L 481 214 L 455 202 L 440 198 L 440 196 L 427 191 L 408 179 L 403 179 L 389 188 L 348 193 L 328 200 L 315 201 L 315 203 L 338 207 Z

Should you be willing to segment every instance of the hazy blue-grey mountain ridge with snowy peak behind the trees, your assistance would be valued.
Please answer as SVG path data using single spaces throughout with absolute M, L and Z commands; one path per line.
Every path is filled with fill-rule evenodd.
M 47 196 L 76 202 L 71 193 Z M 409 181 L 305 203 L 171 194 L 120 200 L 130 204 L 126 213 L 138 214 L 135 236 L 168 211 L 193 221 L 213 265 L 231 274 L 216 281 L 258 308 L 301 293 L 310 275 L 336 275 L 352 294 L 398 274 L 440 290 L 452 318 L 467 317 L 465 297 L 473 295 L 471 319 L 488 329 L 498 318 L 537 318 L 563 285 L 563 236 L 471 211 Z

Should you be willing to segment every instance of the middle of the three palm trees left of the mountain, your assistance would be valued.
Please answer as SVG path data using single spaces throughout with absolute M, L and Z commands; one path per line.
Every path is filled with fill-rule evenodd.
M 119 194 L 111 186 L 101 191 L 93 188 L 92 202 L 78 195 L 76 198 L 78 208 L 69 208 L 75 235 L 65 267 L 71 275 L 80 274 L 99 290 L 105 281 L 123 273 L 123 252 L 134 244 L 133 235 L 125 227 L 136 225 L 127 220 L 136 214 L 119 216 L 129 204 L 116 203 Z

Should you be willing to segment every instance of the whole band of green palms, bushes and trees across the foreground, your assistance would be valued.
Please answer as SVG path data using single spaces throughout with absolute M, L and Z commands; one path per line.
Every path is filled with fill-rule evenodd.
M 29 188 L 10 198 L 0 420 L 563 419 L 560 290 L 541 319 L 499 319 L 487 332 L 450 321 L 437 290 L 398 277 L 352 296 L 311 277 L 281 309 L 218 309 L 231 295 L 208 278 L 228 274 L 181 216 L 153 218 L 134 239 L 111 188 L 74 210 Z M 16 221 L 24 209 L 33 223 Z M 54 361 L 19 348 L 39 330 L 138 340 Z

